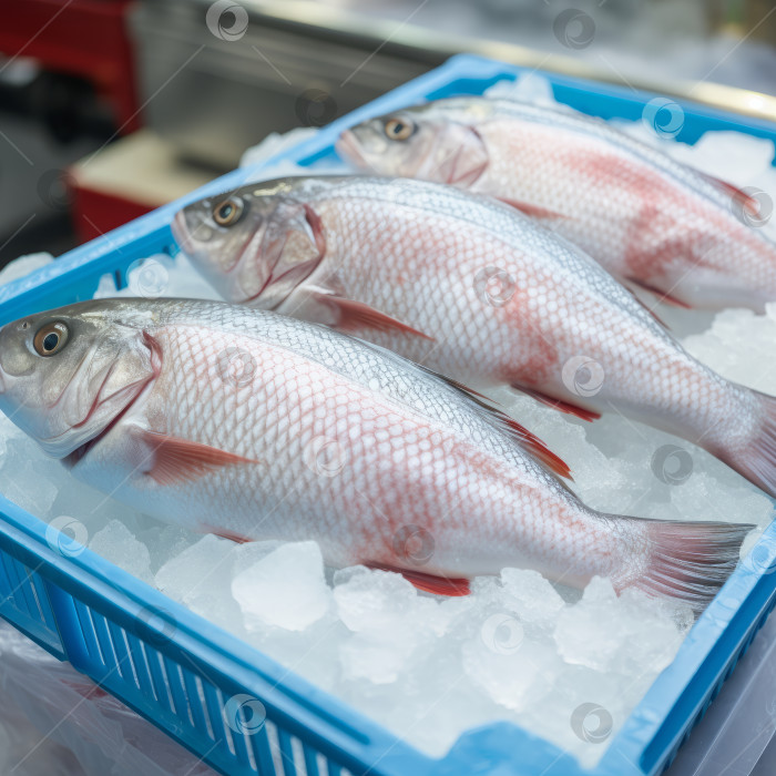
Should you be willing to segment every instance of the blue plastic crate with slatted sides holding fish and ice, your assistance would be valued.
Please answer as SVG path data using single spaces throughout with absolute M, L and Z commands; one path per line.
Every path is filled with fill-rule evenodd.
M 282 157 L 312 164 L 333 156 L 339 131 L 367 116 L 423 99 L 479 94 L 520 72 L 478 57 L 456 57 L 334 122 Z M 543 74 L 561 102 L 603 118 L 637 120 L 655 98 Z M 680 141 L 694 143 L 707 130 L 776 140 L 776 125 L 767 122 L 693 103 L 682 106 Z M 237 186 L 257 171 L 261 167 L 224 175 L 1 287 L 0 323 L 90 298 L 105 273 L 123 285 L 136 259 L 175 252 L 170 222 L 184 203 Z M 432 759 L 91 551 L 68 551 L 69 541 L 0 497 L 0 615 L 214 768 L 239 776 L 657 774 L 671 763 L 776 602 L 776 525 L 770 525 L 595 768 L 581 768 L 554 745 L 510 723 L 471 731 L 445 758 Z M 252 724 L 265 713 L 264 724 Z

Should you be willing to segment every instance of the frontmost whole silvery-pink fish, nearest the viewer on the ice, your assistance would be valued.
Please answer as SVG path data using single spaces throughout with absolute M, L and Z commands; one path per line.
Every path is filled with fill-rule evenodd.
M 595 512 L 462 389 L 246 307 L 112 299 L 31 315 L 0 330 L 0 377 L 2 411 L 121 501 L 238 541 L 312 539 L 333 565 L 433 592 L 517 565 L 700 611 L 753 528 Z

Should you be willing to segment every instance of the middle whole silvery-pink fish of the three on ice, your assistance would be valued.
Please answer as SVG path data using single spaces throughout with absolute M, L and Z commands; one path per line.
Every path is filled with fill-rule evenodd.
M 476 389 L 700 445 L 776 494 L 776 399 L 696 361 L 571 243 L 489 197 L 406 178 L 297 177 L 180 212 L 231 302 L 324 323 Z

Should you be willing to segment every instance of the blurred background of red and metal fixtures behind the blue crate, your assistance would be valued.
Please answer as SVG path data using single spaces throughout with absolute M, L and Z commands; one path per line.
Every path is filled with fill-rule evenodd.
M 0 0 L 0 266 L 469 51 L 776 119 L 769 0 Z

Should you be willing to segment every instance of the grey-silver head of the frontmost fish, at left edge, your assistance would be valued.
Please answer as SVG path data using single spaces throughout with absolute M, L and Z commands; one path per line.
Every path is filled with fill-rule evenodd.
M 159 374 L 134 302 L 80 303 L 0 329 L 0 410 L 48 455 L 84 452 Z

